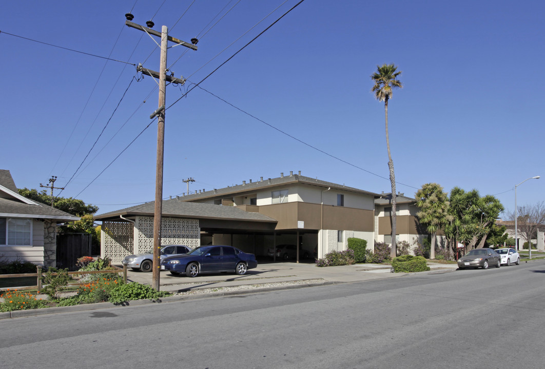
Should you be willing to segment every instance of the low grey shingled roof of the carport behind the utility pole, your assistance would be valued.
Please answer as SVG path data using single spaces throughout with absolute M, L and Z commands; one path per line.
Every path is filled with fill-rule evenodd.
M 125 218 L 136 216 L 153 217 L 154 213 L 155 201 L 150 201 L 142 205 L 131 206 L 122 210 L 100 214 L 98 216 L 94 216 L 94 219 L 119 220 L 119 216 L 123 216 Z M 198 202 L 185 202 L 177 199 L 163 201 L 162 216 L 169 218 L 239 220 L 242 222 L 277 222 L 276 219 L 265 216 L 264 214 L 246 212 L 233 206 L 200 204 Z

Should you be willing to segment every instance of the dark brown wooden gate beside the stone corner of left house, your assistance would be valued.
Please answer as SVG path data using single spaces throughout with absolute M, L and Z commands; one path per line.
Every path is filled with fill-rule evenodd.
M 82 256 L 91 256 L 91 237 L 88 233 L 57 235 L 57 268 L 77 270 L 77 259 Z

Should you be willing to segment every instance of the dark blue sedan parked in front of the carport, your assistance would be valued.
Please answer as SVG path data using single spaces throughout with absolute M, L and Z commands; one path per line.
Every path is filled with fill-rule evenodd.
M 255 255 L 222 245 L 201 246 L 186 255 L 169 256 L 161 261 L 161 270 L 169 270 L 174 275 L 185 273 L 190 277 L 219 272 L 243 275 L 248 269 L 256 267 Z

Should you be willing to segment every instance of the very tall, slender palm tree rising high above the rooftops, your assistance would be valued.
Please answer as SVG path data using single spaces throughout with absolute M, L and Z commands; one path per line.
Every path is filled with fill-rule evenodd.
M 397 77 L 401 71 L 397 71 L 397 66 L 393 64 L 377 65 L 377 71 L 371 75 L 374 86 L 371 92 L 379 101 L 384 101 L 384 114 L 386 117 L 386 147 L 388 149 L 388 168 L 390 170 L 390 183 L 392 186 L 392 248 L 390 256 L 396 257 L 396 177 L 393 174 L 393 161 L 390 153 L 390 138 L 388 136 L 388 100 L 392 98 L 392 88 L 402 88 L 401 81 Z

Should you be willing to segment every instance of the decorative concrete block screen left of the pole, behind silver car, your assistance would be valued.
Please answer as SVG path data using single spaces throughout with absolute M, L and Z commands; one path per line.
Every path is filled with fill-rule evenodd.
M 127 255 L 134 254 L 134 226 L 129 222 L 103 222 L 101 227 L 100 254 L 120 263 Z

